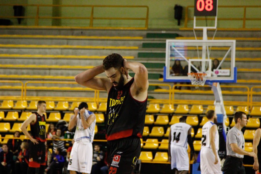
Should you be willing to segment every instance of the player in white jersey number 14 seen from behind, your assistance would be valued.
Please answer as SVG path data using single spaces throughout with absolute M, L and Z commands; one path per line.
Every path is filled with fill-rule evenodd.
M 196 159 L 191 138 L 191 126 L 185 122 L 186 117 L 181 117 L 179 123 L 171 125 L 168 136 L 168 159 L 171 160 L 171 169 L 175 168 L 176 174 L 189 173 L 188 143 L 194 160 Z

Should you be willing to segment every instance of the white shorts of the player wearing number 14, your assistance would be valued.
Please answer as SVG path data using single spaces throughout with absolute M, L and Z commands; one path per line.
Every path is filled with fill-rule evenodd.
M 171 144 L 171 169 L 178 171 L 189 170 L 189 155 L 187 149 Z

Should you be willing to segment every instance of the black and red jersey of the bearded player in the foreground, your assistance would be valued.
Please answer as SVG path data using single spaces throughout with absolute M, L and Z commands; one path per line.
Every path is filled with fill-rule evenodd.
M 122 90 L 110 88 L 107 100 L 106 139 L 114 140 L 130 136 L 142 137 L 146 115 L 146 100 L 139 102 L 131 96 L 134 78 Z

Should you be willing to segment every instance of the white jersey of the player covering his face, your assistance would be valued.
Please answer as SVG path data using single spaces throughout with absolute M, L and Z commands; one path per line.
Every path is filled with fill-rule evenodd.
M 92 112 L 85 110 L 84 113 L 84 119 L 87 120 L 90 115 L 93 114 Z M 76 124 L 76 130 L 74 134 L 74 140 L 75 141 L 80 141 L 83 143 L 89 143 L 93 142 L 94 139 L 94 128 L 95 128 L 95 123 L 96 123 L 96 118 L 93 121 L 93 123 L 88 127 L 87 129 L 84 129 L 81 123 L 81 119 L 79 114 L 77 115 L 77 124 Z

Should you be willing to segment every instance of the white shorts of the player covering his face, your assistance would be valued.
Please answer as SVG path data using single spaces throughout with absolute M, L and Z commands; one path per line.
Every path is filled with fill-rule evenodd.
M 75 142 L 70 153 L 68 170 L 80 173 L 91 173 L 93 163 L 93 144 Z

